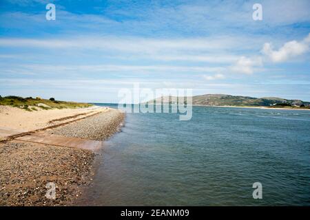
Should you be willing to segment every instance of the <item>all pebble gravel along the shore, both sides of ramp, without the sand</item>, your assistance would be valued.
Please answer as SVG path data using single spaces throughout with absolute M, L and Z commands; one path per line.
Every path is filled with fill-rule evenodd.
M 45 132 L 67 137 L 106 140 L 123 124 L 116 109 L 70 122 Z M 0 206 L 67 206 L 81 197 L 94 175 L 94 153 L 13 140 L 0 142 Z M 56 185 L 56 199 L 48 199 L 46 184 Z

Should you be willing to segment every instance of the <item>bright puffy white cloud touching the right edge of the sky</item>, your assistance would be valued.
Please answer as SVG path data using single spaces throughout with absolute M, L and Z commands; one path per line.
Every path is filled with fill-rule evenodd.
M 310 34 L 302 41 L 289 41 L 279 50 L 273 50 L 271 43 L 265 43 L 262 47 L 262 53 L 265 54 L 272 62 L 280 63 L 302 55 L 309 51 Z

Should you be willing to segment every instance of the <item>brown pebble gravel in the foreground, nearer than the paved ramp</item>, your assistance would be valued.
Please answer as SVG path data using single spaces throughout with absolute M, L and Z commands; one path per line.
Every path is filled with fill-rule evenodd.
M 26 142 L 0 143 L 0 206 L 66 206 L 90 184 L 94 153 Z M 48 182 L 56 199 L 48 199 Z

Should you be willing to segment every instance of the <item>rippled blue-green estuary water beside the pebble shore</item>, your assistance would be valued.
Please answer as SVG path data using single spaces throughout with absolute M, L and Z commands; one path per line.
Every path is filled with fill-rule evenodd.
M 178 116 L 127 113 L 83 203 L 310 205 L 310 111 L 193 107 L 192 120 Z M 254 182 L 262 199 L 252 197 Z

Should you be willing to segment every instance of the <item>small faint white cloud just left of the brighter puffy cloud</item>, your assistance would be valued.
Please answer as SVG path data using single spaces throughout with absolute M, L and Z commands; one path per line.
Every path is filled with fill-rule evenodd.
M 253 74 L 254 68 L 262 65 L 262 58 L 247 58 L 241 56 L 236 64 L 230 67 L 232 72 L 240 74 Z

